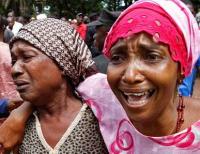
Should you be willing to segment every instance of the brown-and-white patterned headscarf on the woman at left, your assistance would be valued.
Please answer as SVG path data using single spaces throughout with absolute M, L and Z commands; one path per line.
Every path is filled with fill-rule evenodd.
M 74 85 L 80 83 L 94 64 L 91 53 L 79 34 L 68 23 L 48 18 L 33 21 L 12 39 L 25 40 L 57 62 Z

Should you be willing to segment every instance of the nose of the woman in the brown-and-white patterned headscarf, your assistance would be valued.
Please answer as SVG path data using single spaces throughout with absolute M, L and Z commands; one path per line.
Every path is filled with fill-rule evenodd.
M 20 60 L 17 60 L 11 69 L 12 77 L 15 79 L 18 76 L 20 76 L 21 74 L 23 74 L 23 72 L 24 71 L 23 71 L 22 64 L 21 64 Z

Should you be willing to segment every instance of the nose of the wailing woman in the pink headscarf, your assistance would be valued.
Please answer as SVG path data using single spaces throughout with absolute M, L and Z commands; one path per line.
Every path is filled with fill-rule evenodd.
M 137 62 L 130 62 L 122 76 L 123 82 L 127 84 L 141 83 L 144 79 L 145 76 L 142 74 L 142 67 Z

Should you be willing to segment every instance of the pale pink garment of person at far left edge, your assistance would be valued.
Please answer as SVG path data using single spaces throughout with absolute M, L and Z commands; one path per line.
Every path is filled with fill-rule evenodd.
M 0 42 L 0 99 L 20 98 L 11 76 L 11 55 L 8 44 Z

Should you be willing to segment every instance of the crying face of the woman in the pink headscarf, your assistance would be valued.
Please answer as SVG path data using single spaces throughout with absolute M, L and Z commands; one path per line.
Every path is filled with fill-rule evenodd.
M 151 38 L 139 34 L 111 48 L 108 82 L 132 122 L 154 120 L 175 97 L 178 64 Z

